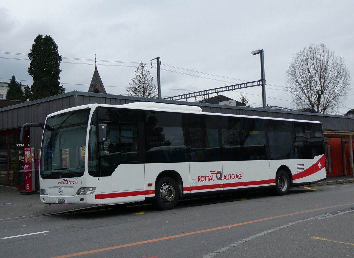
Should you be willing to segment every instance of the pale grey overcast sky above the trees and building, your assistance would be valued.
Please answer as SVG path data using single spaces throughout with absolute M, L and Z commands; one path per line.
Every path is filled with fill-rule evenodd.
M 148 63 L 157 86 L 156 60 L 154 68 L 150 60 L 160 56 L 164 98 L 259 80 L 260 57 L 251 51 L 264 49 L 267 104 L 294 108 L 286 70 L 304 47 L 325 43 L 353 77 L 353 9 L 352 0 L 1 1 L 0 82 L 15 75 L 32 84 L 27 54 L 38 34 L 58 45 L 67 92 L 88 91 L 95 54 L 107 93 L 121 95 L 139 62 Z M 340 114 L 354 108 L 353 81 Z M 262 106 L 259 86 L 222 94 L 240 100 L 239 92 Z

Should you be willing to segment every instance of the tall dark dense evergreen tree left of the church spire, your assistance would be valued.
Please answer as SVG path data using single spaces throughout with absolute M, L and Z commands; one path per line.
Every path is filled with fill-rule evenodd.
M 31 52 L 28 54 L 31 63 L 28 73 L 33 77 L 31 89 L 27 88 L 26 97 L 29 100 L 42 99 L 65 92 L 65 88 L 59 85 L 59 66 L 62 56 L 58 54 L 58 46 L 48 35 L 38 35 L 34 39 Z

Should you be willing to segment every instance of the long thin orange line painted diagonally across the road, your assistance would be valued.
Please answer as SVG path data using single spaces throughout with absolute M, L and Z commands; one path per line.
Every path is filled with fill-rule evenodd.
M 204 230 L 199 230 L 199 231 L 194 231 L 194 232 L 188 232 L 188 233 L 179 234 L 179 235 L 165 236 L 165 237 L 160 237 L 160 238 L 156 238 L 156 239 L 150 239 L 150 240 L 145 240 L 145 241 L 140 241 L 140 242 L 135 242 L 135 243 L 129 243 L 129 244 L 125 244 L 125 245 L 105 247 L 105 248 L 94 249 L 94 250 L 78 252 L 78 253 L 70 253 L 70 254 L 65 254 L 65 255 L 62 255 L 62 256 L 55 256 L 55 257 L 52 257 L 52 258 L 68 258 L 68 257 L 74 257 L 74 256 L 83 255 L 83 254 L 98 253 L 98 252 L 109 251 L 109 250 L 114 250 L 114 249 L 123 248 L 123 247 L 137 246 L 137 245 L 142 245 L 142 244 L 146 244 L 146 243 L 152 243 L 152 242 L 157 242 L 157 241 L 162 241 L 162 240 L 167 240 L 167 239 L 173 239 L 173 238 L 182 237 L 182 236 L 190 236 L 190 235 L 200 234 L 200 233 L 204 233 L 204 232 L 210 232 L 210 231 L 214 231 L 214 230 L 219 230 L 219 229 L 226 229 L 226 228 L 232 228 L 232 227 L 235 227 L 235 226 L 247 225 L 247 224 L 256 223 L 256 222 L 265 221 L 265 220 L 277 219 L 277 218 L 287 217 L 287 216 L 291 216 L 291 215 L 297 215 L 297 214 L 301 214 L 301 213 L 321 211 L 323 209 L 337 208 L 337 207 L 349 206 L 349 205 L 354 205 L 354 203 L 335 205 L 335 206 L 329 206 L 329 207 L 322 207 L 322 208 L 312 209 L 312 210 L 308 210 L 308 211 L 301 211 L 301 212 L 283 214 L 283 215 L 278 215 L 278 216 L 269 217 L 269 218 L 256 219 L 256 220 L 246 221 L 246 222 L 242 222 L 242 223 L 237 223 L 237 224 L 232 224 L 232 225 L 227 225 L 227 226 L 221 226 L 221 227 L 217 227 L 217 228 L 211 228 L 211 229 L 204 229 Z

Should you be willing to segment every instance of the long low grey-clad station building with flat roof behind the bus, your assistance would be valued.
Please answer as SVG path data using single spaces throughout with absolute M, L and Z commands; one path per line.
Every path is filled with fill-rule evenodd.
M 40 149 L 42 129 L 31 127 L 26 131 L 25 141 L 20 140 L 20 130 L 25 123 L 44 123 L 48 114 L 65 108 L 101 103 L 122 105 L 131 102 L 150 101 L 159 103 L 199 106 L 204 112 L 241 114 L 249 116 L 276 117 L 320 121 L 324 130 L 327 176 L 353 174 L 354 117 L 284 111 L 212 103 L 185 102 L 164 99 L 145 99 L 96 92 L 67 92 L 40 100 L 18 103 L 0 108 L 0 185 L 23 188 L 23 148 Z M 39 187 L 39 171 L 35 172 L 35 188 Z

